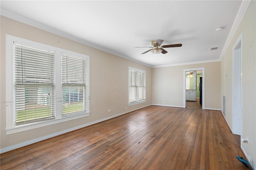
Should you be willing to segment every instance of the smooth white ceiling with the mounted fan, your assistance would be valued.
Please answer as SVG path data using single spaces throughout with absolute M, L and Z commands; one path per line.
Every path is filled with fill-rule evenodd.
M 219 61 L 241 0 L 170 1 L 4 1 L 4 11 L 18 14 L 59 32 L 151 67 Z M 21 17 L 21 18 L 23 18 Z M 216 28 L 222 27 L 222 31 Z M 152 46 L 166 54 L 141 54 Z M 219 47 L 210 51 L 211 47 Z

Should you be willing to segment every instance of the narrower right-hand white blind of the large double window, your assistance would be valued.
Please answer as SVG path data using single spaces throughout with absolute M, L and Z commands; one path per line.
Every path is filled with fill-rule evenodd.
M 62 115 L 80 114 L 86 106 L 85 58 L 62 54 Z

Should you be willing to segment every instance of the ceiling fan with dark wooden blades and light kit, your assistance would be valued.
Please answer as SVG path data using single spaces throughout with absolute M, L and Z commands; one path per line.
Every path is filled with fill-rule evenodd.
M 147 52 L 151 51 L 154 54 L 159 54 L 159 53 L 165 54 L 165 53 L 168 53 L 168 52 L 166 50 L 164 50 L 163 48 L 181 47 L 182 46 L 181 43 L 160 46 L 163 42 L 164 42 L 164 40 L 153 40 L 151 42 L 153 47 L 148 47 L 148 48 L 152 48 L 152 49 L 149 49 L 148 51 L 145 51 L 144 53 L 147 53 Z M 144 47 L 136 47 L 136 48 L 144 48 Z M 141 53 L 141 54 L 144 54 L 144 53 Z

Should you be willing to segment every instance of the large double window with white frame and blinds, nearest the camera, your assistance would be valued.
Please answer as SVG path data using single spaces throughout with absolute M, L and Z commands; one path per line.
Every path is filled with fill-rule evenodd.
M 89 56 L 6 36 L 6 133 L 86 117 Z

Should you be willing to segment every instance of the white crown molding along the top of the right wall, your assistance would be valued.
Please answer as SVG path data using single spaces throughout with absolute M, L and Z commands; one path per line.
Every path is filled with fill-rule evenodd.
M 238 9 L 238 12 L 236 14 L 236 18 L 235 18 L 235 20 L 232 24 L 231 30 L 228 34 L 228 38 L 227 38 L 225 45 L 222 49 L 222 52 L 220 54 L 220 61 L 222 60 L 224 54 L 226 53 L 228 46 L 230 45 L 230 42 L 231 42 L 232 38 L 234 37 L 236 30 L 237 30 L 242 18 L 244 17 L 244 14 L 245 14 L 248 6 L 250 5 L 251 1 L 252 0 L 242 0 L 240 7 Z

